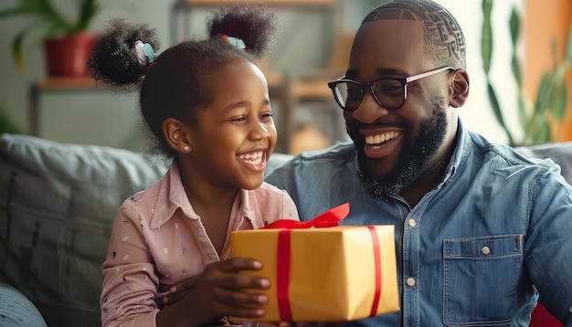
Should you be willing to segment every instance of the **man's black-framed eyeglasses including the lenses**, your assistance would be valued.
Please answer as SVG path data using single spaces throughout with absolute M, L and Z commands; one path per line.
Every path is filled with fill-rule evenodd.
M 365 91 L 369 89 L 376 103 L 387 109 L 396 110 L 401 108 L 408 99 L 408 83 L 423 79 L 445 70 L 454 70 L 447 66 L 433 69 L 427 72 L 409 76 L 408 78 L 380 78 L 367 83 L 360 83 L 354 79 L 335 79 L 328 83 L 328 87 L 334 92 L 337 104 L 344 111 L 355 111 L 364 100 Z

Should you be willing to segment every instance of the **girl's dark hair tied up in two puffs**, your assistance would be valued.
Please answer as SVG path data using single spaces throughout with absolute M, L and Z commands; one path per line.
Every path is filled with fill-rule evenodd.
M 264 6 L 224 6 L 207 20 L 209 39 L 169 47 L 145 67 L 135 56 L 134 43 L 149 43 L 156 52 L 154 29 L 114 20 L 96 40 L 88 67 L 94 79 L 117 90 L 141 88 L 145 124 L 160 149 L 173 156 L 175 151 L 164 139 L 163 121 L 175 118 L 195 126 L 197 112 L 213 100 L 209 73 L 236 59 L 256 63 L 270 52 L 277 26 L 276 16 Z M 242 39 L 246 47 L 234 47 L 223 36 Z

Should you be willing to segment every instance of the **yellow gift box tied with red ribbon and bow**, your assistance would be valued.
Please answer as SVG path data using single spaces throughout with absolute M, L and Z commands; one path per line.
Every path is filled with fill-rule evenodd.
M 344 204 L 310 222 L 231 232 L 231 257 L 260 260 L 263 268 L 248 273 L 270 280 L 257 321 L 342 322 L 399 310 L 394 227 L 336 226 L 348 211 Z

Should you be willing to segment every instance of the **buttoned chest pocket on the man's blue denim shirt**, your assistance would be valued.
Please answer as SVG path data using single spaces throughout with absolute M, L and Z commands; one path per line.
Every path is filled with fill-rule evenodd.
M 445 238 L 443 322 L 508 325 L 522 262 L 522 235 Z

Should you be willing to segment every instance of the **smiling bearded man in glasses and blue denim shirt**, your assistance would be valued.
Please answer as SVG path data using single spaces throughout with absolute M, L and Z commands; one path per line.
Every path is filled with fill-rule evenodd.
M 463 127 L 465 51 L 442 6 L 378 6 L 329 83 L 353 142 L 267 178 L 302 220 L 349 202 L 342 224 L 395 226 L 401 311 L 346 325 L 524 326 L 539 294 L 572 326 L 572 188 Z

